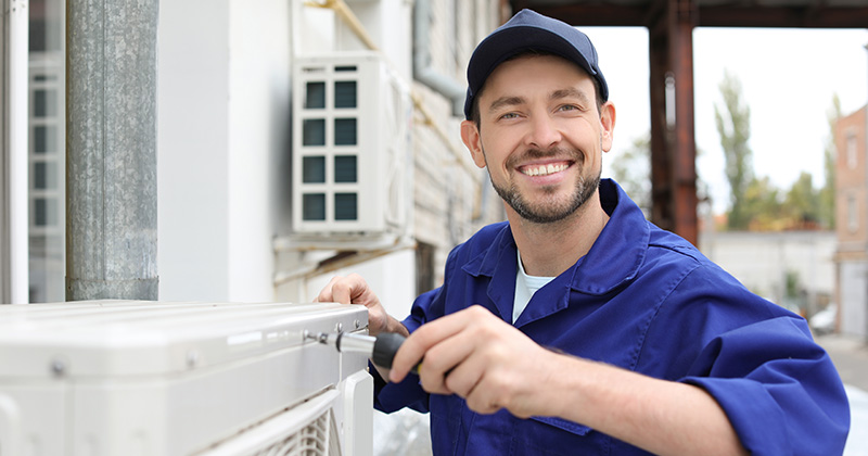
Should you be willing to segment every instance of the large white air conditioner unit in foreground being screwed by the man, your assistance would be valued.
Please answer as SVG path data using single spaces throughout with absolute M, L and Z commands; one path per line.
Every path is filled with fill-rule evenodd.
M 0 455 L 372 453 L 365 331 L 340 304 L 0 305 Z

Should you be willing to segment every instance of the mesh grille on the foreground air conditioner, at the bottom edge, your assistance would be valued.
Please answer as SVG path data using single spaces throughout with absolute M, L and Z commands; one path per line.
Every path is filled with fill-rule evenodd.
M 340 456 L 341 445 L 331 410 L 297 432 L 254 454 L 254 456 Z

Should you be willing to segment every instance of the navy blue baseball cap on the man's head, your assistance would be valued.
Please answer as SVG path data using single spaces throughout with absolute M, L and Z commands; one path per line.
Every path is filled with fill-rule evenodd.
M 522 10 L 482 40 L 473 51 L 468 64 L 468 96 L 464 99 L 467 119 L 471 116 L 473 98 L 497 65 L 529 49 L 551 52 L 576 63 L 597 79 L 602 101 L 609 100 L 609 86 L 600 72 L 597 50 L 590 39 L 564 22 Z

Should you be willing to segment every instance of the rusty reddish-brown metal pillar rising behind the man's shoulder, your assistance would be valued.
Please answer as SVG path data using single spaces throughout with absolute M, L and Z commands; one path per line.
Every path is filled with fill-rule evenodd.
M 695 244 L 697 145 L 693 136 L 692 0 L 662 0 L 649 26 L 651 218 Z

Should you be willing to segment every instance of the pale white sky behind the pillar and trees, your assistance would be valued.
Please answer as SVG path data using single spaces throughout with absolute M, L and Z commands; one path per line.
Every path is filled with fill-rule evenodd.
M 643 27 L 579 27 L 597 48 L 615 103 L 615 142 L 604 165 L 650 130 L 648 33 Z M 868 30 L 712 28 L 693 31 L 697 161 L 714 210 L 727 208 L 729 186 L 714 124 L 724 72 L 738 77 L 751 110 L 754 173 L 788 189 L 802 172 L 825 181 L 822 156 L 834 93 L 844 115 L 868 103 Z M 608 166 L 603 175 L 608 174 Z

